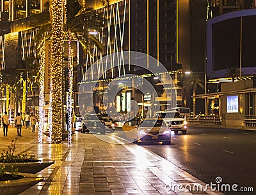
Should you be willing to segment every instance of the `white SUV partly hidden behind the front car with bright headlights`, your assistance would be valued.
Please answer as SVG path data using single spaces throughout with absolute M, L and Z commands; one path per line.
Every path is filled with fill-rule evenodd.
M 163 119 L 166 124 L 169 124 L 170 129 L 174 131 L 174 134 L 178 134 L 179 131 L 181 131 L 182 134 L 187 134 L 187 121 L 179 112 L 175 112 L 173 110 L 159 111 L 156 113 L 154 118 Z

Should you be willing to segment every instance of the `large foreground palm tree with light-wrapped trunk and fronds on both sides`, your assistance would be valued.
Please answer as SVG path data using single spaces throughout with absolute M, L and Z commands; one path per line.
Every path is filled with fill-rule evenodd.
M 109 4 L 109 0 L 99 0 L 104 5 Z M 68 0 L 66 10 L 63 11 L 63 1 L 51 0 L 49 11 L 35 15 L 35 22 L 31 27 L 36 27 L 37 36 L 36 43 L 38 49 L 44 47 L 44 41 L 47 39 L 52 40 L 51 48 L 51 69 L 52 69 L 52 91 L 50 103 L 52 104 L 52 143 L 60 142 L 61 131 L 63 128 L 62 119 L 62 105 L 63 105 L 63 40 L 68 42 L 78 40 L 85 53 L 88 50 L 90 43 L 94 43 L 100 47 L 99 41 L 94 36 L 88 33 L 88 29 L 99 30 L 102 26 L 102 20 L 97 17 L 92 8 L 86 8 L 86 1 L 82 0 Z M 64 12 L 64 13 L 63 13 Z M 60 20 L 63 16 L 65 20 Z M 70 48 L 69 48 L 70 50 Z M 72 74 L 72 71 L 70 71 Z M 70 85 L 72 87 L 72 85 Z M 72 92 L 72 88 L 69 89 Z M 72 94 L 72 93 L 71 93 Z M 51 129 L 51 127 L 50 127 Z

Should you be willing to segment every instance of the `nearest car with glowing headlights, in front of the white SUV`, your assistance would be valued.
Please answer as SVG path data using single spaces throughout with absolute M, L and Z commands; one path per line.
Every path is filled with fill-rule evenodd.
M 171 130 L 163 119 L 141 120 L 137 135 L 138 143 L 148 141 L 163 142 L 163 145 L 171 143 Z

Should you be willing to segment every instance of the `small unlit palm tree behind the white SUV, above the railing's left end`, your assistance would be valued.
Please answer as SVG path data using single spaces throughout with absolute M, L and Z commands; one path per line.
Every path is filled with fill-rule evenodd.
M 184 85 L 185 89 L 193 90 L 193 116 L 195 116 L 196 111 L 196 89 L 197 87 L 201 87 L 204 89 L 204 79 L 200 77 L 198 73 L 191 73 L 189 76 L 184 77 L 182 80 L 182 85 Z

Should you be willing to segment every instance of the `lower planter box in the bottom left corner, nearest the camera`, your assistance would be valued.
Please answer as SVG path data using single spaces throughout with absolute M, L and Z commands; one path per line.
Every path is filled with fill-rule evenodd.
M 38 175 L 30 173 L 18 173 L 18 175 L 23 175 L 24 178 L 0 181 L 0 194 L 20 194 L 21 192 L 26 191 L 29 187 L 44 180 L 43 177 L 38 177 Z

